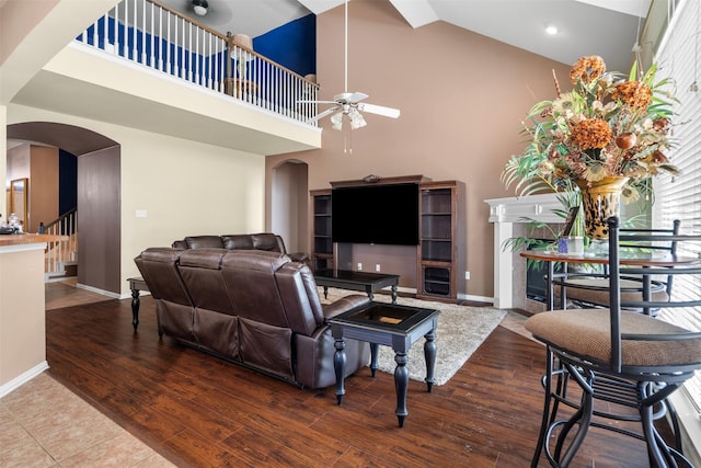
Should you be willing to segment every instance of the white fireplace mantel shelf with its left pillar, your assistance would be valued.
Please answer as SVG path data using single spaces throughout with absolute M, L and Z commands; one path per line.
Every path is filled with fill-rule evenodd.
M 514 255 L 504 251 L 504 242 L 514 237 L 514 224 L 535 219 L 561 224 L 562 217 L 554 210 L 563 209 L 558 196 L 552 194 L 525 197 L 485 199 L 490 205 L 490 222 L 494 222 L 494 307 L 514 307 Z

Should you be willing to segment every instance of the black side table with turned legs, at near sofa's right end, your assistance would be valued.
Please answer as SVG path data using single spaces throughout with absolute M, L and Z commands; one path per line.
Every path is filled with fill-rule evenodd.
M 404 426 L 406 410 L 406 389 L 409 387 L 409 369 L 406 353 L 421 336 L 426 339 L 424 355 L 426 357 L 426 386 L 433 390 L 436 369 L 436 327 L 439 310 L 418 307 L 398 306 L 394 304 L 370 303 L 329 319 L 331 333 L 335 339 L 336 352 L 333 356 L 336 373 L 336 400 L 343 402 L 346 353 L 344 338 L 370 343 L 370 370 L 372 377 L 377 373 L 378 345 L 392 346 L 394 350 L 394 386 L 397 388 L 397 419 L 399 426 Z

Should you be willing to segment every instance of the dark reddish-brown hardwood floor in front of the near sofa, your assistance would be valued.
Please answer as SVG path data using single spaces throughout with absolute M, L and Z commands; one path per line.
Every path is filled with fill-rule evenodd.
M 503 327 L 433 393 L 411 380 L 399 429 L 392 375 L 356 373 L 338 407 L 333 388 L 299 389 L 159 340 L 150 296 L 138 333 L 130 299 L 46 319 L 50 375 L 179 466 L 526 467 L 537 441 L 543 347 Z M 641 442 L 601 430 L 574 464 L 646 465 Z

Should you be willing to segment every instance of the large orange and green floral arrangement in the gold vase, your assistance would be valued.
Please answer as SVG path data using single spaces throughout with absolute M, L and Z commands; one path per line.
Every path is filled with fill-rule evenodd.
M 676 102 L 668 91 L 671 80 L 655 82 L 656 65 L 644 73 L 637 68 L 633 64 L 624 77 L 607 72 L 601 57 L 582 57 L 570 72 L 573 89 L 564 93 L 553 70 L 556 99 L 530 110 L 530 125 L 524 124 L 528 145 L 504 168 L 506 186 L 515 183 L 516 192 L 527 195 L 624 176 L 629 181 L 622 198 L 628 203 L 650 189 L 645 182 L 651 176 L 677 173 L 666 156 Z

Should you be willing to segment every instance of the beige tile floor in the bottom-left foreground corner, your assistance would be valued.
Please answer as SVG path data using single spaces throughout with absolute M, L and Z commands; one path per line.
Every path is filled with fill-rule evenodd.
M 0 399 L 0 466 L 173 465 L 44 373 Z

